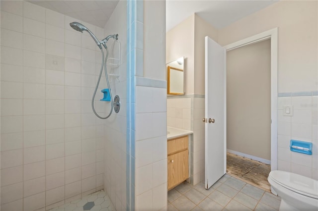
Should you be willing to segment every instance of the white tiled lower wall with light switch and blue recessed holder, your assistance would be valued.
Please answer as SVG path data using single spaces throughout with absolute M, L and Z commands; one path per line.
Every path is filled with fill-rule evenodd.
M 278 95 L 278 169 L 318 179 L 318 96 L 313 92 Z M 284 106 L 293 106 L 293 116 L 283 116 Z M 313 154 L 292 152 L 290 140 L 313 143 Z

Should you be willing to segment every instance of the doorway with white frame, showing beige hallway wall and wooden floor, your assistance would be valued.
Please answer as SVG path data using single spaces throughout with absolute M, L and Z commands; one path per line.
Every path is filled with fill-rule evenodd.
M 266 191 L 277 169 L 277 29 L 270 31 L 225 47 L 227 173 Z

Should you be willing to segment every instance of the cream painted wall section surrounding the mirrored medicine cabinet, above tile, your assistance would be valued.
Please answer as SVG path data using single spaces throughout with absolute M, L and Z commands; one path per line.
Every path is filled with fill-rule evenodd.
M 184 56 L 185 94 L 193 94 L 194 14 L 166 33 L 166 63 Z

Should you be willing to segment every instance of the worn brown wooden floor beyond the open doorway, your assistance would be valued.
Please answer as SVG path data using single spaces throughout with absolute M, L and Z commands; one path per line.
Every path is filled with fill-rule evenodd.
M 267 181 L 269 172 L 268 164 L 227 153 L 227 174 L 267 192 L 270 192 Z

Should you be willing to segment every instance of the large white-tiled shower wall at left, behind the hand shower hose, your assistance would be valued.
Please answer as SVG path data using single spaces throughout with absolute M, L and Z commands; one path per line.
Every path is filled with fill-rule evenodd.
M 1 210 L 48 210 L 103 188 L 103 121 L 90 107 L 101 54 L 73 21 L 1 0 Z

